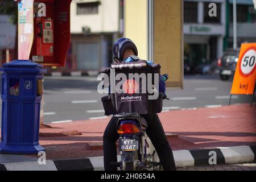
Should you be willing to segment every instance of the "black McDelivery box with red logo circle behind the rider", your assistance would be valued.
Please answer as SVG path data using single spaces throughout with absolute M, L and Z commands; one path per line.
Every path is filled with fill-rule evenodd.
M 100 73 L 109 78 L 109 96 L 101 98 L 105 115 L 160 113 L 163 93 L 155 86 L 160 81 L 160 68 L 159 64 L 149 65 L 144 60 L 101 68 Z

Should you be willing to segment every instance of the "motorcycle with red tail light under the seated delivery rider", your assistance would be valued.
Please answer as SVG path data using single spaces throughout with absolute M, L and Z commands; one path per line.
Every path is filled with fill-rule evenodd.
M 163 75 L 164 80 L 168 75 Z M 163 99 L 168 99 L 166 95 Z M 113 116 L 117 121 L 121 161 L 111 163 L 121 171 L 156 171 L 161 168 L 156 151 L 147 154 L 147 121 L 137 113 L 121 113 Z

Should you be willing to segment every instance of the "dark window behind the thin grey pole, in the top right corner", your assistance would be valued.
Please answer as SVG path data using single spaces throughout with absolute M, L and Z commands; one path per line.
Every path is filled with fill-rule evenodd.
M 233 4 L 229 5 L 230 8 L 230 22 L 233 22 Z M 255 22 L 256 15 L 254 6 L 237 5 L 237 22 Z

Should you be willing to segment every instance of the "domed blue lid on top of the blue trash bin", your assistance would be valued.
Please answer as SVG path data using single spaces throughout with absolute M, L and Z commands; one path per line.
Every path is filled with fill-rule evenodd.
M 9 63 L 3 64 L 3 68 L 16 68 L 16 67 L 42 68 L 43 66 L 31 60 L 14 60 Z

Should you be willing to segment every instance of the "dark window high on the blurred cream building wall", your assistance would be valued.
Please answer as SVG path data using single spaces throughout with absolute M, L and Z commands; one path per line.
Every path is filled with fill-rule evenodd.
M 98 14 L 100 2 L 77 3 L 77 15 Z

